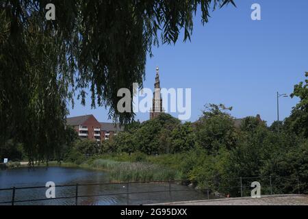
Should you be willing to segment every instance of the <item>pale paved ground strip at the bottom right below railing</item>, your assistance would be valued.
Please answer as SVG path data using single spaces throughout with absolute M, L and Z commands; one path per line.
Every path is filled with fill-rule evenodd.
M 308 205 L 308 195 L 275 195 L 261 198 L 224 198 L 216 200 L 184 201 L 161 205 Z

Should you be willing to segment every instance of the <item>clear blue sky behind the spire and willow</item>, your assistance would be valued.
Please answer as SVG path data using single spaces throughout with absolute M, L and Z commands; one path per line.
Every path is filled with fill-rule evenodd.
M 209 23 L 194 18 L 191 42 L 153 49 L 148 57 L 144 87 L 153 88 L 159 66 L 164 88 L 192 88 L 192 116 L 201 115 L 206 103 L 232 106 L 232 116 L 260 114 L 271 124 L 277 119 L 276 92 L 290 94 L 308 71 L 308 1 L 235 0 L 211 13 Z M 251 5 L 261 5 L 261 21 L 251 20 Z M 280 99 L 280 118 L 290 115 L 298 99 Z M 70 116 L 94 114 L 107 121 L 107 110 L 91 110 L 76 101 Z M 172 114 L 177 116 L 176 114 Z M 137 114 L 141 121 L 149 114 Z

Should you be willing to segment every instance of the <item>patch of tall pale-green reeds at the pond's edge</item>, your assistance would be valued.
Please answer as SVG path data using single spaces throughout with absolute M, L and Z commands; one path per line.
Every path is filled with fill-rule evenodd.
M 112 181 L 164 181 L 179 179 L 179 172 L 146 162 L 118 162 L 111 159 L 94 159 L 88 163 L 94 169 L 110 172 Z

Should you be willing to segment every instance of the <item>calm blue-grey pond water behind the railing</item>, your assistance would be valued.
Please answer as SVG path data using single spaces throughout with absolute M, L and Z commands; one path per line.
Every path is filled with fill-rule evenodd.
M 64 184 L 86 184 L 107 183 L 107 173 L 101 171 L 84 170 L 79 168 L 16 168 L 11 170 L 0 170 L 0 188 L 16 188 L 28 186 L 44 186 L 47 181 L 53 181 L 55 185 Z M 168 183 L 132 183 L 129 184 L 129 192 L 168 191 Z M 47 188 L 16 190 L 15 201 L 46 198 Z M 170 201 L 188 201 L 205 199 L 207 196 L 185 185 L 172 184 L 171 190 L 189 190 L 184 192 L 154 192 L 142 194 L 129 194 L 130 205 L 144 205 L 150 203 L 164 203 Z M 126 185 L 87 185 L 79 186 L 79 196 L 107 194 L 99 197 L 79 198 L 79 205 L 126 205 Z M 75 196 L 74 187 L 55 189 L 56 197 Z M 0 202 L 11 201 L 12 190 L 0 191 Z M 15 205 L 74 205 L 75 198 L 32 201 L 26 203 L 15 203 Z

